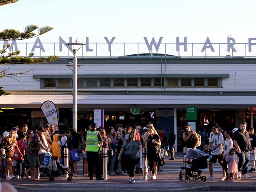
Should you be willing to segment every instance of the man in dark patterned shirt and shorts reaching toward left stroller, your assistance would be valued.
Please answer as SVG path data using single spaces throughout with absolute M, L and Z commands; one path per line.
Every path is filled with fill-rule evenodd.
M 38 127 L 37 132 L 33 134 L 27 148 L 28 164 L 30 166 L 30 174 L 31 174 L 30 180 L 34 180 L 34 181 L 39 181 L 38 177 L 35 178 L 35 171 L 38 171 L 37 168 L 39 167 L 38 153 L 40 148 L 46 151 L 50 151 L 49 148 L 46 148 L 43 145 L 42 135 L 43 135 L 43 127 Z

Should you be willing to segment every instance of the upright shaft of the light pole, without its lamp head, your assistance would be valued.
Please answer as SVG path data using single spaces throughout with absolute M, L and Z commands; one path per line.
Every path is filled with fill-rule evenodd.
M 76 79 L 77 79 L 77 58 L 76 58 L 77 50 L 73 49 L 73 129 L 76 131 L 76 120 L 77 120 L 77 86 L 76 86 Z

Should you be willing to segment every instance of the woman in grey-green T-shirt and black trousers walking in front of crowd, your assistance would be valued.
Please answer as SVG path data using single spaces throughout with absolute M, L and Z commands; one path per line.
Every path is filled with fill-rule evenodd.
M 122 145 L 122 149 L 119 153 L 118 160 L 121 160 L 121 156 L 124 153 L 124 161 L 129 172 L 129 183 L 134 183 L 134 174 L 136 165 L 140 160 L 140 153 L 142 151 L 141 142 L 138 140 L 134 131 L 130 132 L 128 140 Z M 131 155 L 131 158 L 130 158 Z

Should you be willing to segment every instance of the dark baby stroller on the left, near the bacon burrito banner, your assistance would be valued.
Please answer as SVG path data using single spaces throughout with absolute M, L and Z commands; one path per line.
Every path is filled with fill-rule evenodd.
M 59 172 L 61 172 L 61 174 L 68 174 L 69 177 L 67 178 L 67 181 L 72 181 L 72 175 L 69 174 L 68 172 L 68 168 L 62 164 L 60 164 L 58 161 L 56 161 L 56 158 L 53 157 L 52 153 L 47 153 L 50 158 L 51 158 L 51 162 L 48 166 L 49 172 L 50 172 L 50 177 L 49 177 L 49 181 L 54 181 L 55 177 L 58 177 L 60 174 Z

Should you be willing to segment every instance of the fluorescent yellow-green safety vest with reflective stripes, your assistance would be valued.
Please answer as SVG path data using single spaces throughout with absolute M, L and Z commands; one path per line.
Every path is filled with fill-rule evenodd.
M 98 131 L 87 131 L 86 133 L 86 151 L 99 150 Z

